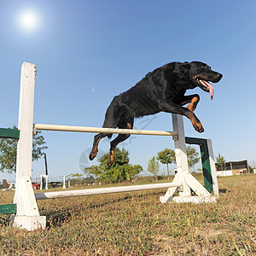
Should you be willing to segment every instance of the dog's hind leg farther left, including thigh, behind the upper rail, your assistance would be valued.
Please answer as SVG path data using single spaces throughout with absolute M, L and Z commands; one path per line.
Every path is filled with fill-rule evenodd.
M 105 120 L 103 124 L 103 128 L 116 128 L 119 123 L 119 116 L 121 115 L 121 110 L 119 108 L 119 104 L 115 98 L 110 103 L 106 113 L 105 113 Z M 97 153 L 98 153 L 98 144 L 103 137 L 112 137 L 111 133 L 99 133 L 94 137 L 93 146 L 90 151 L 90 160 L 94 160 Z

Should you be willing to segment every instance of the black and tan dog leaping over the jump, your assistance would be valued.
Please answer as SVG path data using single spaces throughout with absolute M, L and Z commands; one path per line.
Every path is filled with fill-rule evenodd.
M 184 96 L 186 90 L 199 86 L 210 92 L 213 97 L 213 87 L 208 81 L 217 83 L 222 74 L 214 72 L 207 64 L 192 62 L 171 62 L 148 73 L 140 82 L 113 97 L 105 114 L 104 128 L 132 129 L 134 118 L 148 114 L 166 113 L 183 114 L 190 119 L 195 130 L 203 132 L 200 120 L 194 110 L 199 102 L 197 94 Z M 182 106 L 189 103 L 187 108 Z M 99 133 L 94 137 L 90 160 L 97 154 L 98 143 L 102 137 L 112 137 L 112 134 Z M 130 137 L 129 134 L 119 134 L 111 143 L 109 165 L 113 164 L 113 154 L 116 146 Z

